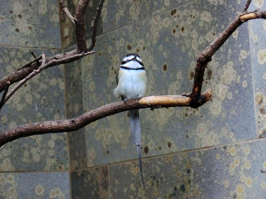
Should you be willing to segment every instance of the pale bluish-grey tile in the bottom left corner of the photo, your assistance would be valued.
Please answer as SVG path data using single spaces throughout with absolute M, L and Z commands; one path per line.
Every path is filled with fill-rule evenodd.
M 0 173 L 0 198 L 70 199 L 68 172 Z

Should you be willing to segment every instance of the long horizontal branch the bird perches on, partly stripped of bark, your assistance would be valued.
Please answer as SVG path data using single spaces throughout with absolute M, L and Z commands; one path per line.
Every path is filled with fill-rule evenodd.
M 202 93 L 202 97 L 209 101 L 211 99 L 211 90 L 208 89 Z M 206 102 L 205 101 L 205 102 Z M 205 103 L 205 102 L 202 102 Z M 46 133 L 60 133 L 67 131 L 78 130 L 93 121 L 98 119 L 117 114 L 123 111 L 140 108 L 153 108 L 156 107 L 175 107 L 175 106 L 190 106 L 199 107 L 202 104 L 194 104 L 193 98 L 184 96 L 150 96 L 143 97 L 139 101 L 136 99 L 130 99 L 126 103 L 124 101 L 118 101 L 107 104 L 100 108 L 96 108 L 88 113 L 81 116 L 75 117 L 68 120 L 56 120 L 56 121 L 45 121 L 33 124 L 24 124 L 17 126 L 13 129 L 3 131 L 0 133 L 0 147 L 11 142 L 12 140 Z

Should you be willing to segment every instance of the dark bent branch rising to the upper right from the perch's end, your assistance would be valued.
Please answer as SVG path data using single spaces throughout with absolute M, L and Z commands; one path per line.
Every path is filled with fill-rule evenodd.
M 210 43 L 210 45 L 197 58 L 194 73 L 194 84 L 191 93 L 183 94 L 184 96 L 199 95 L 202 88 L 202 81 L 205 67 L 211 61 L 213 54 L 223 45 L 230 35 L 244 22 L 250 19 L 265 19 L 265 11 L 254 11 L 237 16 L 229 26 Z

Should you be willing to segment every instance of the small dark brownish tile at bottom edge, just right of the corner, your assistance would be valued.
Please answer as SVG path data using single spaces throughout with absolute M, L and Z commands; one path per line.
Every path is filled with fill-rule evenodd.
M 107 167 L 71 172 L 72 198 L 109 198 Z

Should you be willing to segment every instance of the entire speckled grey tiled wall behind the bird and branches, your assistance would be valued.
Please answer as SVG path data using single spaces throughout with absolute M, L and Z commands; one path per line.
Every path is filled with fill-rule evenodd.
M 147 95 L 190 92 L 197 55 L 245 2 L 105 1 L 96 53 L 30 80 L 1 110 L 1 129 L 72 118 L 119 100 L 112 93 L 115 75 L 130 52 L 142 57 Z M 77 2 L 66 3 L 74 13 Z M 89 4 L 87 29 L 96 3 Z M 62 14 L 60 24 L 56 0 L 1 1 L 0 7 L 1 77 L 33 59 L 30 50 L 49 56 L 74 48 L 73 27 Z M 265 10 L 265 2 L 252 1 L 254 9 Z M 244 23 L 215 53 L 203 85 L 212 89 L 212 101 L 197 109 L 140 110 L 147 190 L 128 116 L 120 113 L 77 132 L 6 144 L 0 198 L 264 198 L 265 31 L 265 20 Z

